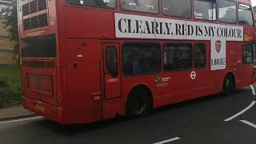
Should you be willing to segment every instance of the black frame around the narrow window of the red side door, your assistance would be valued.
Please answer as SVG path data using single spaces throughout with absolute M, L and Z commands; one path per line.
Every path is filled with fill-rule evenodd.
M 110 60 L 109 58 L 107 58 L 107 52 L 108 50 L 110 49 L 114 49 L 114 53 L 115 53 L 115 58 L 116 58 L 116 62 L 115 62 L 115 71 L 110 71 L 110 67 L 108 66 L 108 60 Z M 117 50 L 117 47 L 116 46 L 106 46 L 105 47 L 105 66 L 106 66 L 106 72 L 108 74 L 110 74 L 113 78 L 118 78 L 118 50 Z M 114 74 L 113 74 L 114 73 Z

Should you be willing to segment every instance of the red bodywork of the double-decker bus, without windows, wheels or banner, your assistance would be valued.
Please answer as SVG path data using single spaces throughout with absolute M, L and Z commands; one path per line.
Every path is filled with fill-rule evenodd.
M 21 9 L 26 2 L 19 0 L 20 38 L 55 34 L 57 57 L 22 58 L 21 55 L 24 91 L 22 104 L 27 110 L 56 122 L 89 123 L 114 118 L 117 114 L 124 115 L 126 98 L 130 90 L 138 85 L 149 88 L 153 96 L 154 108 L 156 108 L 218 94 L 222 92 L 222 83 L 227 73 L 234 74 L 237 88 L 254 83 L 253 65 L 242 64 L 243 42 L 226 42 L 226 70 L 210 71 L 210 41 L 115 38 L 114 13 L 170 18 L 161 13 L 142 14 L 122 11 L 120 4 L 116 9 L 106 10 L 74 6 L 65 0 L 47 0 L 46 12 L 49 15 L 49 26 L 25 31 Z M 247 0 L 239 0 L 239 2 L 249 4 Z M 38 13 L 30 14 L 26 18 Z M 186 20 L 198 21 L 194 18 Z M 244 35 L 249 37 L 249 40 L 246 39 L 247 42 L 254 42 L 254 27 L 244 26 Z M 121 64 L 123 42 L 159 42 L 161 45 L 166 42 L 205 43 L 206 69 L 194 70 L 197 74 L 196 80 L 190 78 L 193 70 L 171 73 L 162 70 L 159 74 L 125 77 L 122 75 Z M 104 47 L 106 46 L 118 48 L 119 75 L 114 80 L 106 74 L 104 66 Z M 171 81 L 164 83 L 167 86 L 157 86 L 155 78 L 158 76 L 171 78 Z

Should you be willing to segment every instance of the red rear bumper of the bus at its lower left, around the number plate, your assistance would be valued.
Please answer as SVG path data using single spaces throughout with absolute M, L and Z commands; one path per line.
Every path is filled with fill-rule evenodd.
M 44 110 L 38 110 L 36 108 L 36 103 L 43 106 Z M 41 101 L 38 101 L 38 100 L 35 100 L 32 98 L 26 98 L 26 97 L 22 97 L 22 105 L 26 110 L 30 110 L 31 112 L 41 115 L 41 116 L 43 116 L 47 119 L 50 119 L 54 122 L 64 124 L 61 108 L 51 106 L 50 104 L 47 104 L 46 102 L 41 102 Z

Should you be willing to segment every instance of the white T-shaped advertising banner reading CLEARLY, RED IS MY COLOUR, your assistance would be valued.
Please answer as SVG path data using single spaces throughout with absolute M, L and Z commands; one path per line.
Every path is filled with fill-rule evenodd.
M 242 26 L 115 13 L 116 38 L 211 41 L 211 70 L 226 69 L 226 41 L 243 41 Z M 216 51 L 218 50 L 218 51 Z

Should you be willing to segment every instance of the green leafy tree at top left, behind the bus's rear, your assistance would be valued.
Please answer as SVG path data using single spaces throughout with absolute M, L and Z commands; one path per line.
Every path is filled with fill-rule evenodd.
M 14 41 L 14 50 L 18 52 L 18 10 L 17 10 L 17 1 L 14 1 L 13 6 L 8 6 L 6 8 L 2 8 L 0 11 L 0 15 L 3 15 L 5 21 L 4 28 L 6 28 L 8 32 L 8 38 L 10 41 Z

